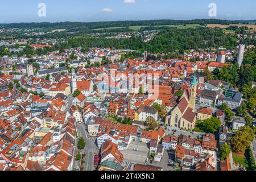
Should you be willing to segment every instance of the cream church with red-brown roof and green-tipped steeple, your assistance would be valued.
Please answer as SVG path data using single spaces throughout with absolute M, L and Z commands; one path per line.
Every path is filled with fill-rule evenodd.
M 189 90 L 184 90 L 179 103 L 170 111 L 170 114 L 166 116 L 166 126 L 176 126 L 193 130 L 196 125 L 196 89 L 197 82 L 196 75 L 194 75 L 190 92 Z

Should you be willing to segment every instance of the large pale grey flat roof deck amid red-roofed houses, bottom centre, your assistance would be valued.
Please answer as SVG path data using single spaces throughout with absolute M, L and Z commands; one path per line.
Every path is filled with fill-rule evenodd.
M 145 164 L 149 151 L 146 143 L 132 141 L 127 150 L 121 152 L 125 162 Z

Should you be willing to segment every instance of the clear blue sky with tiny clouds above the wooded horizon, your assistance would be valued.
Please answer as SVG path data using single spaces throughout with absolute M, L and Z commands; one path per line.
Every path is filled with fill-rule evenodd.
M 256 19 L 255 0 L 1 1 L 0 23 L 210 18 L 209 3 L 216 3 L 217 19 Z M 46 17 L 38 16 L 39 3 L 46 4 Z

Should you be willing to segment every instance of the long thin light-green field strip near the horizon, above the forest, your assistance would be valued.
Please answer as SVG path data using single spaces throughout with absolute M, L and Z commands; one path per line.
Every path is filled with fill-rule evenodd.
M 142 27 L 173 27 L 173 28 L 195 28 L 195 27 L 201 27 L 200 24 L 187 24 L 186 26 L 181 25 L 162 25 L 162 26 L 129 26 L 129 27 L 108 27 L 108 28 L 98 28 L 94 30 L 109 30 L 109 29 L 118 29 L 118 28 L 129 28 L 130 30 L 138 31 Z

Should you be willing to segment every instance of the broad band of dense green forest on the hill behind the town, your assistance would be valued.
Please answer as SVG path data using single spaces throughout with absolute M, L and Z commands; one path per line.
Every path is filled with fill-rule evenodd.
M 191 48 L 220 47 L 235 48 L 238 39 L 231 35 L 225 35 L 220 28 L 188 28 L 179 30 L 171 28 L 163 30 L 150 42 L 143 42 L 140 37 L 132 36 L 125 39 L 106 39 L 106 38 L 74 38 L 67 43 L 56 45 L 56 48 L 72 47 L 114 47 L 117 49 L 133 49 L 138 51 L 148 51 L 151 53 L 168 53 L 178 50 L 184 53 Z

